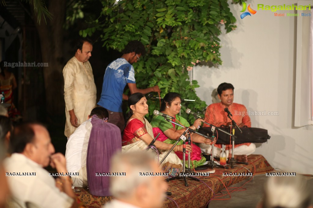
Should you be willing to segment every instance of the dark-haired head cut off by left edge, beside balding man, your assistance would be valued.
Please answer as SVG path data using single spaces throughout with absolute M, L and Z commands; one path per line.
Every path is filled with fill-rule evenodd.
M 0 140 L 1 144 L 4 146 L 3 148 L 8 151 L 10 136 L 13 130 L 11 119 L 6 116 L 0 115 Z

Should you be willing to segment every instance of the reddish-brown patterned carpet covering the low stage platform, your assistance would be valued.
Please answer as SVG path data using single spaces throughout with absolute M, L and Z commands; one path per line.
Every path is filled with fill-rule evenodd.
M 177 207 L 177 205 L 178 207 L 206 207 L 206 204 L 214 195 L 211 189 L 217 194 L 224 188 L 223 183 L 228 187 L 249 178 L 249 176 L 229 176 L 230 174 L 227 173 L 249 173 L 250 171 L 253 175 L 258 175 L 274 170 L 262 155 L 249 155 L 248 162 L 248 165 L 236 164 L 233 169 L 215 167 L 216 172 L 210 173 L 209 177 L 198 177 L 203 182 L 187 179 L 188 187 L 184 186 L 183 180 L 168 182 L 168 191 L 172 192 L 172 195 L 167 196 L 170 199 L 167 198 L 164 201 L 163 207 L 170 208 Z M 206 171 L 203 170 L 201 172 Z M 228 176 L 223 176 L 223 173 Z M 211 189 L 208 188 L 208 186 Z M 80 201 L 84 202 L 85 205 L 90 208 L 101 207 L 112 199 L 111 196 L 92 196 L 85 188 L 75 187 L 75 192 Z

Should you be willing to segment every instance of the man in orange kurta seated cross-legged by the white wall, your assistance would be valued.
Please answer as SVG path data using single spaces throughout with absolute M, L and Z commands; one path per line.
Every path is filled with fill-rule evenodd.
M 222 83 L 218 86 L 218 98 L 221 100 L 220 103 L 213 103 L 208 106 L 204 119 L 207 123 L 210 123 L 214 126 L 220 127 L 222 125 L 228 126 L 231 123 L 231 120 L 228 118 L 227 113 L 224 111 L 225 108 L 228 108 L 230 113 L 233 115 L 233 120 L 237 123 L 239 128 L 247 126 L 251 127 L 250 117 L 246 114 L 247 109 L 242 104 L 233 103 L 233 85 L 230 83 Z M 240 113 L 239 113 L 240 112 Z M 203 127 L 209 127 L 207 124 L 203 124 Z M 215 144 L 214 146 L 214 157 L 219 157 L 220 144 Z M 211 153 L 211 145 L 199 145 L 202 152 L 208 154 Z M 226 145 L 226 155 L 229 154 L 231 145 Z M 247 162 L 247 155 L 252 154 L 255 151 L 254 143 L 243 143 L 236 144 L 234 148 L 234 158 Z

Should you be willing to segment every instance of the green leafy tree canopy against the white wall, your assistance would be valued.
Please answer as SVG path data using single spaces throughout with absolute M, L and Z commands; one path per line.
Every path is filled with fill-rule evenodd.
M 245 0 L 233 0 L 242 3 Z M 196 80 L 189 81 L 188 70 L 199 62 L 222 64 L 219 49 L 221 27 L 226 32 L 236 28 L 235 17 L 227 0 L 101 0 L 102 12 L 83 37 L 95 31 L 106 48 L 121 51 L 128 41 L 140 40 L 147 55 L 134 63 L 138 88 L 159 85 L 161 97 L 168 92 L 181 94 L 182 116 L 185 110 L 203 114 L 206 103 L 195 93 Z M 208 94 L 209 95 L 209 94 Z M 150 113 L 159 109 L 158 100 L 149 100 Z M 190 120 L 192 116 L 189 115 Z

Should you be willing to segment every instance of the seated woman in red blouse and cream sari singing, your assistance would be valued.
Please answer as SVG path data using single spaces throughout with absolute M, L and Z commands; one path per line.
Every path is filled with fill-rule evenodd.
M 130 108 L 128 121 L 124 128 L 123 139 L 122 139 L 122 153 L 128 151 L 145 150 L 148 144 L 153 140 L 153 132 L 150 123 L 144 118 L 148 114 L 148 104 L 144 94 L 134 93 L 128 98 L 128 107 Z M 173 145 L 155 141 L 154 145 L 159 150 L 166 150 L 159 155 L 159 161 L 167 154 Z M 182 151 L 182 145 L 177 145 L 174 151 Z M 186 145 L 186 151 L 191 151 L 191 146 Z M 174 152 L 171 152 L 167 158 L 163 161 L 174 164 L 181 164 L 182 162 L 176 156 Z

